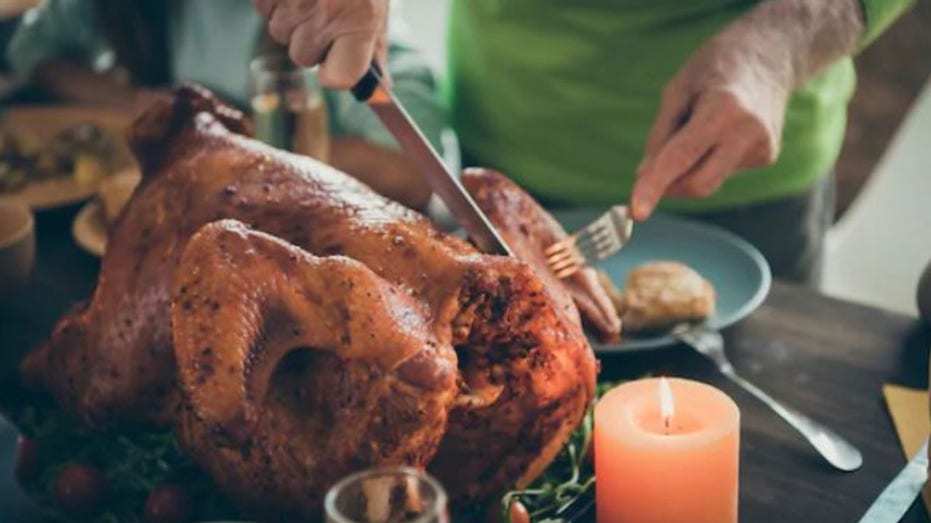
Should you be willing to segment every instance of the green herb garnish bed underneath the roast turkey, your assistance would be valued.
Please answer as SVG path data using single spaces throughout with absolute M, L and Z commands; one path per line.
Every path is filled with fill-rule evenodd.
M 615 384 L 600 384 L 597 396 Z M 57 407 L 40 404 L 12 413 L 14 424 L 39 446 L 40 473 L 26 491 L 43 515 L 62 523 L 144 523 L 142 506 L 155 487 L 165 483 L 185 485 L 196 501 L 195 521 L 236 519 L 228 500 L 219 494 L 210 477 L 178 447 L 170 432 L 113 434 L 83 428 Z M 507 492 L 501 499 L 502 521 L 512 522 L 511 505 L 523 504 L 534 523 L 560 523 L 555 516 L 594 488 L 595 474 L 587 456 L 591 452 L 594 411 L 582 418 L 568 443 L 528 488 Z M 99 469 L 109 485 L 106 508 L 89 518 L 75 518 L 58 508 L 55 482 L 72 463 Z M 466 515 L 480 517 L 481 507 Z

